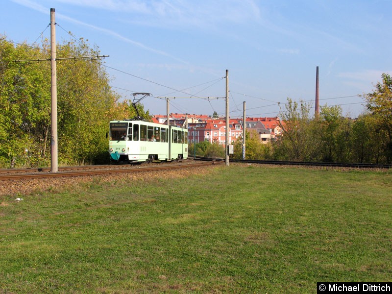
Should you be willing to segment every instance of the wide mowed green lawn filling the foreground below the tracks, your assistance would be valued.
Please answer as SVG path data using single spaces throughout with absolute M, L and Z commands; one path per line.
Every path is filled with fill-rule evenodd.
M 1 293 L 316 293 L 321 281 L 391 281 L 391 172 L 231 164 L 14 198 L 0 197 Z

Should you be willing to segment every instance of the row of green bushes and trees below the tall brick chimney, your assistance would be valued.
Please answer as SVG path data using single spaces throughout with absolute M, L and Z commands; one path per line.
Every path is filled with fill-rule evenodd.
M 310 103 L 288 98 L 279 115 L 282 136 L 263 144 L 255 131 L 246 131 L 245 159 L 392 164 L 392 77 L 384 73 L 365 98 L 367 111 L 355 120 L 328 105 L 315 118 Z M 209 144 L 201 144 L 196 154 L 203 156 Z M 233 145 L 232 158 L 243 159 L 242 138 Z

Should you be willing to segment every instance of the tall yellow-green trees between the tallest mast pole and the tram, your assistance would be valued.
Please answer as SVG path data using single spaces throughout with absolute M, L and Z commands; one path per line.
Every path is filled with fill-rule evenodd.
M 97 56 L 84 40 L 59 45 L 58 58 Z M 64 162 L 92 162 L 107 149 L 105 133 L 117 97 L 109 87 L 105 68 L 97 60 L 57 62 L 59 158 Z

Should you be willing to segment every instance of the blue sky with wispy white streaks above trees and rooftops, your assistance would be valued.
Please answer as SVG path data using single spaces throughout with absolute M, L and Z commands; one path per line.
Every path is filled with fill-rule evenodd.
M 392 0 L 3 0 L 0 33 L 29 44 L 88 39 L 105 59 L 124 98 L 166 114 L 156 97 L 224 97 L 229 70 L 230 117 L 277 116 L 287 98 L 364 109 L 357 95 L 392 74 Z M 178 91 L 174 91 L 174 90 Z M 182 91 L 182 92 L 181 92 Z M 185 93 L 183 93 L 185 92 Z M 280 102 L 280 107 L 278 105 Z M 224 99 L 176 98 L 170 112 L 224 115 Z M 313 109 L 312 109 L 313 111 Z

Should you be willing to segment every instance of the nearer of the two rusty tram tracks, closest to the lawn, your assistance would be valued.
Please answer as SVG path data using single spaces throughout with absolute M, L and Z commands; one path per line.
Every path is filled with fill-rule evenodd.
M 99 175 L 99 174 L 110 174 L 110 173 L 124 173 L 124 172 L 151 172 L 151 171 L 162 171 L 162 170 L 173 170 L 182 168 L 194 168 L 200 166 L 208 166 L 216 164 L 216 161 L 208 162 L 197 162 L 194 164 L 182 164 L 182 165 L 166 165 L 166 166 L 154 166 L 146 168 L 124 168 L 124 169 L 109 169 L 109 170 L 89 170 L 89 171 L 77 171 L 77 172 L 47 172 L 47 173 L 23 173 L 23 174 L 9 174 L 0 175 L 0 181 L 3 180 L 22 180 L 22 179 L 42 179 L 42 178 L 55 178 L 55 177 L 72 177 L 72 176 L 87 176 L 87 175 Z

